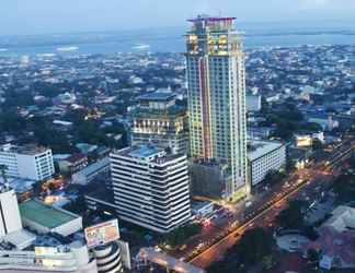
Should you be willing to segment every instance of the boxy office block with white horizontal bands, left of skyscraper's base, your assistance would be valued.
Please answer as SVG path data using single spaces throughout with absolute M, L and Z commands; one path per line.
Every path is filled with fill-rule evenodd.
M 119 218 L 169 233 L 191 219 L 186 155 L 154 146 L 130 146 L 111 154 Z

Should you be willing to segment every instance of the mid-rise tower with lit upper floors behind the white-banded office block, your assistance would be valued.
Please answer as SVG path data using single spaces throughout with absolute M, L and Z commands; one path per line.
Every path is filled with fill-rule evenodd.
M 175 154 L 187 153 L 187 112 L 185 107 L 175 104 L 175 95 L 170 91 L 140 96 L 131 118 L 133 145 L 154 144 L 169 147 Z

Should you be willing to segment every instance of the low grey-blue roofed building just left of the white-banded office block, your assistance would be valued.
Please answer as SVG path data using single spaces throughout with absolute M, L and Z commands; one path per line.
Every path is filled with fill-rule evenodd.
M 110 158 L 104 157 L 85 168 L 73 174 L 71 180 L 73 183 L 88 185 L 95 178 L 105 178 L 110 176 Z

